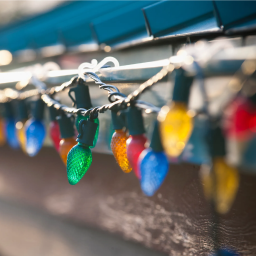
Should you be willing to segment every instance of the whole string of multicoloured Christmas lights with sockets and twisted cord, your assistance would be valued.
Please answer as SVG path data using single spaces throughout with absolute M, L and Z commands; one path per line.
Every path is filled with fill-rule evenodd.
M 21 92 L 6 88 L 0 91 L 0 103 L 5 108 L 4 118 L 0 119 L 0 127 L 2 122 L 5 122 L 6 140 L 9 145 L 13 148 L 20 146 L 24 153 L 34 156 L 42 147 L 46 134 L 43 106 L 47 105 L 50 111 L 49 133 L 52 142 L 66 165 L 68 182 L 74 185 L 83 177 L 92 162 L 91 148 L 95 146 L 99 132 L 98 114 L 110 110 L 112 127 L 115 130 L 110 142 L 113 155 L 124 172 L 134 171 L 146 195 L 153 195 L 160 187 L 167 175 L 169 163 L 174 161 L 200 164 L 205 196 L 213 202 L 216 212 L 225 213 L 230 209 L 237 192 L 239 174 L 236 167 L 240 164 L 230 164 L 226 160 L 226 143 L 234 134 L 243 134 L 244 137 L 246 133 L 246 139 L 253 137 L 251 123 L 254 116 L 249 120 L 250 126 L 242 129 L 238 128 L 237 124 L 235 128 L 231 127 L 235 123 L 235 118 L 239 118 L 239 113 L 234 110 L 231 111 L 231 122 L 228 117 L 229 122 L 226 126 L 221 126 L 224 123 L 221 121 L 222 116 L 217 122 L 213 122 L 208 110 L 209 100 L 204 88 L 203 70 L 198 62 L 192 59 L 193 57 L 186 55 L 177 61 L 172 56 L 159 72 L 127 96 L 116 86 L 102 82 L 95 72 L 89 70 L 83 70 L 82 77 L 76 75 L 60 86 L 51 88 L 46 88 L 42 81 L 32 77 L 31 82 L 35 89 Z M 242 109 L 248 104 L 241 100 L 239 91 L 255 71 L 252 71 L 252 68 L 245 68 L 249 66 L 248 63 L 248 60 L 243 62 L 227 86 L 238 93 L 239 97 L 234 102 Z M 95 66 L 95 63 L 93 65 Z M 141 94 L 173 71 L 175 76 L 172 101 L 168 105 L 159 108 L 139 99 Z M 87 78 L 108 92 L 108 104 L 92 107 L 86 85 Z M 202 111 L 197 112 L 188 108 L 190 88 L 194 79 L 200 80 L 200 93 L 204 98 Z M 68 89 L 68 95 L 73 101 L 72 107 L 55 99 L 55 95 L 65 89 Z M 28 119 L 25 99 L 31 96 L 37 96 L 37 100 Z M 250 107 L 256 109 L 253 96 L 246 95 L 243 98 L 245 102 L 250 102 Z M 11 113 L 10 103 L 13 99 L 17 99 L 18 102 L 17 119 Z M 232 107 L 232 103 L 228 106 Z M 148 139 L 145 136 L 141 110 L 145 113 L 157 113 L 157 120 L 149 139 L 150 144 L 146 143 Z M 78 132 L 76 138 L 74 123 Z M 2 141 L 4 138 L 0 132 L 1 144 Z M 247 155 L 243 158 L 246 163 L 249 162 L 246 160 Z M 250 163 L 251 165 L 255 168 L 256 162 Z M 217 180 L 221 180 L 221 183 Z

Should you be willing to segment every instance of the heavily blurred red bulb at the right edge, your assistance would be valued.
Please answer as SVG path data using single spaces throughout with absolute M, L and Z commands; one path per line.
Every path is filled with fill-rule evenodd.
M 255 136 L 256 104 L 249 98 L 236 97 L 224 110 L 223 129 L 228 138 L 240 141 Z

